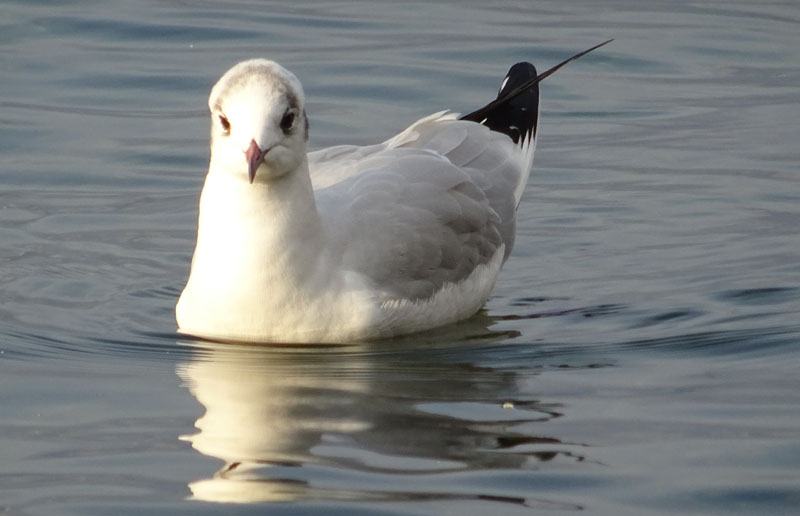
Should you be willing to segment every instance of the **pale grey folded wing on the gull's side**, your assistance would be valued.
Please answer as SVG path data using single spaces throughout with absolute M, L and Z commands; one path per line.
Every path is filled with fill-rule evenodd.
M 516 147 L 479 124 L 431 118 L 385 144 L 309 155 L 335 252 L 388 297 L 427 298 L 513 245 Z

